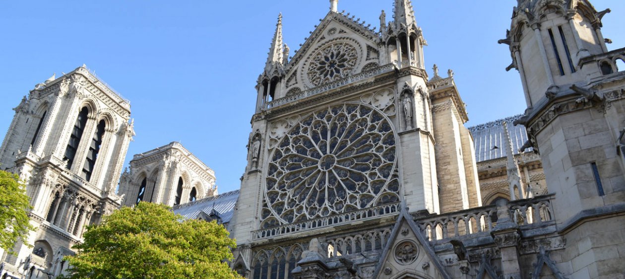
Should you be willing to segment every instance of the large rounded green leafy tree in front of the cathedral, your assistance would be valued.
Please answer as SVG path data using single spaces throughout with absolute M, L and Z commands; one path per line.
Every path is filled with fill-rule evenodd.
M 153 203 L 115 211 L 88 226 L 65 278 L 241 278 L 225 262 L 236 245 L 226 229 L 181 218 Z

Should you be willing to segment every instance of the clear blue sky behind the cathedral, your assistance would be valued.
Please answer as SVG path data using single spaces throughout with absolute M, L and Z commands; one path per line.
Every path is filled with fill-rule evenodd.
M 340 0 L 339 11 L 372 26 L 391 20 L 391 0 Z M 507 46 L 512 0 L 413 0 L 429 43 L 429 73 L 451 68 L 474 125 L 522 113 L 525 101 Z M 609 49 L 625 46 L 625 1 L 594 0 Z M 236 190 L 256 79 L 277 14 L 291 53 L 329 8 L 327 0 L 271 1 L 2 1 L 0 135 L 22 96 L 53 73 L 88 68 L 131 100 L 137 136 L 132 155 L 181 141 L 216 171 L 219 191 Z

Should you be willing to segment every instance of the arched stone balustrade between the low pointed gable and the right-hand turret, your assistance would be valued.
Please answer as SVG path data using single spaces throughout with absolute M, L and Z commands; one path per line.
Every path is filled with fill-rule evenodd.
M 508 203 L 512 220 L 521 229 L 553 223 L 551 195 L 516 200 Z M 421 230 L 431 241 L 462 238 L 492 231 L 497 225 L 497 206 L 489 205 L 418 220 Z

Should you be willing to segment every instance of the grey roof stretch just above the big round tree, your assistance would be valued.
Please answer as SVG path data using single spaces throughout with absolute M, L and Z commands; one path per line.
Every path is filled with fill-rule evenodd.
M 183 215 L 184 220 L 197 219 L 202 212 L 211 215 L 214 210 L 219 213 L 222 223 L 228 223 L 234 214 L 234 206 L 239 198 L 239 190 L 223 193 L 217 196 L 203 198 L 201 200 L 185 203 L 184 205 L 174 206 L 174 213 Z

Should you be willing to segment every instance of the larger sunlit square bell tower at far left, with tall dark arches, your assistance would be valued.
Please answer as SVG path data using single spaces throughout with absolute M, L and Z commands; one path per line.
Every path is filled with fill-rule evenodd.
M 0 163 L 25 181 L 37 229 L 16 243 L 17 255 L 0 256 L 5 270 L 17 270 L 9 275 L 56 276 L 85 226 L 121 203 L 115 190 L 134 136 L 130 103 L 83 65 L 37 84 L 14 111 Z

